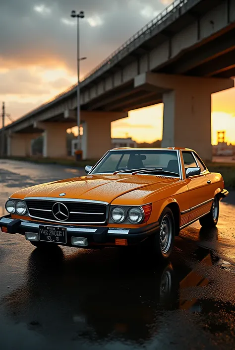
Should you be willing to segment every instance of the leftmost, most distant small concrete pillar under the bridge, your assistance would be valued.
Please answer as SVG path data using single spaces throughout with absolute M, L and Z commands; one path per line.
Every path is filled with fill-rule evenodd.
M 31 142 L 42 134 L 9 134 L 6 138 L 7 156 L 30 157 Z

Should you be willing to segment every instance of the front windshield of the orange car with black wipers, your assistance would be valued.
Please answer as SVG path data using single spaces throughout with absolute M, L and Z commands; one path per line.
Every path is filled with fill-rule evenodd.
M 177 152 L 175 150 L 112 150 L 95 167 L 92 174 L 114 173 L 121 170 L 130 172 L 130 170 L 144 168 L 160 168 L 161 170 L 156 170 L 156 173 L 169 172 L 164 175 L 179 176 Z M 148 173 L 148 169 L 145 173 Z M 149 174 L 155 175 L 155 172 L 149 171 Z

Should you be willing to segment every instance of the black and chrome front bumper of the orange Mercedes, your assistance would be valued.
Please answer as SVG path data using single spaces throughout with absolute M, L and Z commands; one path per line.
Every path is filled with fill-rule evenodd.
M 0 228 L 7 228 L 7 233 L 19 233 L 25 235 L 26 232 L 38 233 L 39 225 L 46 225 L 47 222 L 36 222 L 29 220 L 11 219 L 10 215 L 0 217 Z M 52 223 L 50 225 L 53 226 Z M 67 243 L 61 244 L 65 246 L 73 246 L 71 237 L 87 238 L 88 246 L 84 248 L 92 248 L 92 246 L 113 246 L 116 239 L 126 239 L 127 244 L 138 244 L 145 240 L 149 235 L 158 232 L 159 223 L 154 222 L 139 228 L 116 228 L 107 226 L 72 226 L 72 225 L 56 225 L 57 227 L 67 228 Z

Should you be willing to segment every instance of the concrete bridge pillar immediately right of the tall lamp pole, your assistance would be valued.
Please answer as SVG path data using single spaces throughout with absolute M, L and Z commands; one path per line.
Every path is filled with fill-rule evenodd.
M 83 159 L 99 159 L 111 149 L 111 123 L 126 117 L 128 112 L 82 111 Z

